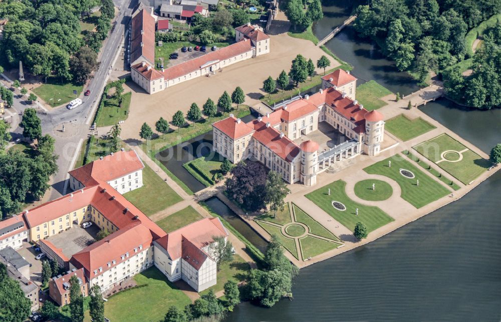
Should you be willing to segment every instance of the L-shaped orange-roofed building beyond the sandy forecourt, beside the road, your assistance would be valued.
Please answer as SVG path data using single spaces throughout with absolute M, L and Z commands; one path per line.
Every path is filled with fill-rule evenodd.
M 232 64 L 270 52 L 270 37 L 250 23 L 235 29 L 236 43 L 169 68 L 155 69 L 155 18 L 139 7 L 132 14 L 130 66 L 132 80 L 148 94 L 200 76 L 210 76 Z M 165 62 L 167 63 L 167 62 Z

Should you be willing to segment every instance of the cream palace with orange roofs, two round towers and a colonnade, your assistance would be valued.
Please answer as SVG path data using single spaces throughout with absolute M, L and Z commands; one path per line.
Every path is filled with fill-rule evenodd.
M 282 174 L 288 183 L 314 185 L 318 173 L 360 153 L 378 155 L 384 139 L 384 117 L 367 111 L 355 99 L 357 79 L 341 69 L 322 78 L 314 95 L 297 97 L 274 107 L 252 122 L 230 115 L 212 124 L 214 151 L 237 163 L 256 160 Z M 350 94 L 348 94 L 348 93 Z M 318 143 L 303 136 L 326 122 L 347 141 L 320 150 Z

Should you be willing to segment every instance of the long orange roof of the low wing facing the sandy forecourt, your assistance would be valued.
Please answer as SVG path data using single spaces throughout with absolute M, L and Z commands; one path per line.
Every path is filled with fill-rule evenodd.
M 218 61 L 223 61 L 237 55 L 244 54 L 252 49 L 253 45 L 251 42 L 242 40 L 238 43 L 231 44 L 214 52 L 210 52 L 184 63 L 169 67 L 164 70 L 162 74 L 165 77 L 165 80 L 171 80 L 192 73 L 194 71 L 198 71 L 202 66 L 213 65 Z

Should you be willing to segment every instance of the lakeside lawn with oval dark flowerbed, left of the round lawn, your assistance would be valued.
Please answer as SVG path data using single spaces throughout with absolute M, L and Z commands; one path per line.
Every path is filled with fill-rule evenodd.
M 378 207 L 365 206 L 351 200 L 346 195 L 345 187 L 346 182 L 342 180 L 334 181 L 310 192 L 306 197 L 352 231 L 355 229 L 355 224 L 359 221 L 367 226 L 369 232 L 393 221 L 393 218 Z M 331 189 L 330 196 L 327 192 L 329 188 Z M 343 203 L 346 206 L 346 210 L 340 211 L 335 209 L 332 206 L 333 200 Z M 356 208 L 358 208 L 358 216 L 356 215 Z

